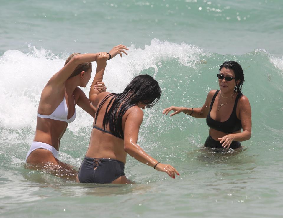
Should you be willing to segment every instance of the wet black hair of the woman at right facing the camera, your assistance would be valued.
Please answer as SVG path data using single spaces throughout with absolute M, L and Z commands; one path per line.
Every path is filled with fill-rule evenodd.
M 231 70 L 234 71 L 235 77 L 236 77 L 235 80 L 240 80 L 239 84 L 236 85 L 237 88 L 235 87 L 235 91 L 237 90 L 237 92 L 242 93 L 241 89 L 242 89 L 243 83 L 245 82 L 245 79 L 244 79 L 244 72 L 243 72 L 241 65 L 239 63 L 235 62 L 235 61 L 225 61 L 219 67 L 219 73 L 220 73 L 220 70 L 223 67 L 225 67 L 226 69 L 231 69 Z

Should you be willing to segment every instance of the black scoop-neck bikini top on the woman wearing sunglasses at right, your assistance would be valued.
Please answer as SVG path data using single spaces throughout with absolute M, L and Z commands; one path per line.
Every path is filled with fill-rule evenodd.
M 217 121 L 217 120 L 213 120 L 210 117 L 210 111 L 211 111 L 212 105 L 213 105 L 214 100 L 215 100 L 217 94 L 219 93 L 219 91 L 220 90 L 217 90 L 215 92 L 215 94 L 213 95 L 213 98 L 212 98 L 212 101 L 211 101 L 211 104 L 210 104 L 210 108 L 209 108 L 209 113 L 208 113 L 207 118 L 206 118 L 207 125 L 210 128 L 221 131 L 223 133 L 233 133 L 233 132 L 241 130 L 242 129 L 242 123 L 241 123 L 241 120 L 239 120 L 237 118 L 236 109 L 237 109 L 238 100 L 243 95 L 242 93 L 238 93 L 238 95 L 236 96 L 234 108 L 233 108 L 232 114 L 231 114 L 231 116 L 229 117 L 228 120 L 226 120 L 224 122 L 220 122 L 220 121 Z

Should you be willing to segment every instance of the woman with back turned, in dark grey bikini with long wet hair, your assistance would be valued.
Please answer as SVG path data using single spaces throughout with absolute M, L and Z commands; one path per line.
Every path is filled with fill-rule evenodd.
M 102 53 L 101 57 L 97 59 L 97 64 L 105 68 L 106 54 Z M 131 183 L 124 173 L 127 154 L 175 178 L 175 174 L 179 173 L 173 166 L 158 162 L 137 144 L 143 121 L 141 109 L 158 102 L 161 96 L 158 82 L 149 75 L 139 75 L 120 94 L 100 93 L 94 85 L 102 82 L 103 74 L 104 69 L 96 72 L 89 92 L 89 99 L 97 111 L 77 182 Z

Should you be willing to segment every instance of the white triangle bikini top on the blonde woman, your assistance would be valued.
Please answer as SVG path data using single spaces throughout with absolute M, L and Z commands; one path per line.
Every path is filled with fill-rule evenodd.
M 66 99 L 64 98 L 63 101 L 60 103 L 60 105 L 53 111 L 52 114 L 50 115 L 41 115 L 37 113 L 38 117 L 41 118 L 47 118 L 47 119 L 52 119 L 52 120 L 59 120 L 59 121 L 64 121 L 67 123 L 71 123 L 76 119 L 76 108 L 75 108 L 75 113 L 74 115 L 67 120 L 68 117 L 68 107 L 66 103 Z

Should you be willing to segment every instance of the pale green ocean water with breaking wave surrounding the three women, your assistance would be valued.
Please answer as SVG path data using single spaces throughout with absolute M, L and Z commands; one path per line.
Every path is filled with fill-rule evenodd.
M 0 6 L 1 217 L 282 217 L 282 1 L 11 0 Z M 138 144 L 181 175 L 171 179 L 130 156 L 125 174 L 133 185 L 76 184 L 24 169 L 48 79 L 73 52 L 118 44 L 129 47 L 128 56 L 107 62 L 104 82 L 121 92 L 136 75 L 158 80 L 162 96 L 144 110 Z M 201 107 L 226 60 L 243 67 L 242 91 L 252 108 L 252 136 L 239 153 L 204 149 L 205 119 L 161 114 L 171 105 Z M 83 90 L 88 95 L 89 87 Z M 76 110 L 59 159 L 78 168 L 93 118 Z

